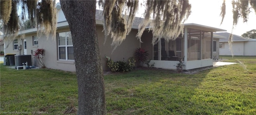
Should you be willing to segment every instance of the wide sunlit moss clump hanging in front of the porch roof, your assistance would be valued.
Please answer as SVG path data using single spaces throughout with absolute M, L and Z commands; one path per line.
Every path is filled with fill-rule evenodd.
M 190 9 L 188 0 L 147 0 L 145 20 L 139 25 L 137 37 L 140 39 L 146 26 L 150 24 L 149 30 L 153 33 L 152 44 L 160 40 L 158 38 L 175 40 L 183 34 L 182 23 L 190 15 Z

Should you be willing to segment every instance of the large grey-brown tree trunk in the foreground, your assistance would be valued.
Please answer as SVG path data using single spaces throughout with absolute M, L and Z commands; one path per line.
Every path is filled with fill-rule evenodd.
M 96 33 L 96 0 L 60 0 L 74 46 L 78 115 L 105 115 L 105 88 Z

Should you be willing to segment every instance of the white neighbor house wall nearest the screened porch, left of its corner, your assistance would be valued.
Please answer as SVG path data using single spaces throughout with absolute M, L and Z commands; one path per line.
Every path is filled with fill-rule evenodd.
M 220 42 L 222 47 L 220 48 L 220 55 L 231 56 L 231 51 L 229 50 L 228 42 Z M 234 56 L 244 56 L 244 42 L 233 42 L 232 50 Z

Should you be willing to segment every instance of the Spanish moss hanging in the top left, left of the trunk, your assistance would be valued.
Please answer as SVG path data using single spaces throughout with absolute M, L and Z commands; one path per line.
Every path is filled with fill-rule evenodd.
M 56 8 L 55 0 L 1 0 L 1 20 L 4 23 L 5 36 L 18 35 L 19 20 L 28 19 L 34 24 L 35 21 L 41 33 L 48 37 L 50 33 L 52 38 L 56 37 Z M 12 7 L 8 5 L 11 3 Z M 18 17 L 17 10 L 21 6 L 21 17 Z M 4 11 L 4 13 L 2 13 Z M 11 12 L 11 13 L 9 13 Z M 10 17 L 8 17 L 8 14 Z M 12 35 L 11 35 L 12 34 Z M 6 38 L 6 37 L 5 37 Z

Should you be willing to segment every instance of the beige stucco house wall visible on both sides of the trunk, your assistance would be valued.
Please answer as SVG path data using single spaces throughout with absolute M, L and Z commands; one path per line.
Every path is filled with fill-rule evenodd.
M 99 40 L 99 48 L 100 48 L 100 57 L 102 59 L 102 67 L 103 70 L 108 70 L 109 68 L 106 65 L 106 58 L 104 55 L 110 57 L 113 61 L 122 61 L 124 58 L 124 61 L 128 61 L 129 57 L 134 56 L 134 52 L 136 48 L 140 47 L 140 42 L 135 37 L 137 34 L 137 30 L 132 30 L 130 34 L 127 36 L 126 40 L 116 48 L 116 50 L 113 51 L 113 48 L 110 44 L 112 43 L 112 39 L 108 37 L 106 40 L 106 43 L 104 44 L 104 32 L 102 32 L 103 27 L 97 26 L 97 34 L 98 34 L 98 40 Z M 62 28 L 57 30 L 58 32 L 66 32 L 70 31 L 69 28 Z M 75 63 L 74 61 L 63 61 L 58 60 L 58 46 L 57 46 L 57 38 L 53 39 L 52 36 L 49 36 L 48 39 L 46 36 L 38 36 L 38 46 L 33 46 L 33 39 L 32 36 L 36 36 L 36 33 L 34 34 L 27 34 L 24 39 L 26 39 L 27 42 L 27 55 L 31 54 L 38 48 L 43 48 L 45 50 L 45 65 L 48 68 L 52 69 L 61 69 L 64 71 L 76 71 L 75 69 Z M 22 45 L 23 47 L 23 41 L 18 40 L 18 44 Z M 23 50 L 23 48 L 22 48 Z M 21 50 L 21 52 L 23 52 Z M 112 53 L 113 51 L 113 53 Z M 13 44 L 9 44 L 9 47 L 6 48 L 7 54 L 16 54 L 19 55 L 18 50 L 13 50 Z M 23 55 L 23 53 L 22 53 Z M 36 60 L 33 59 L 33 65 L 39 66 L 36 63 Z

